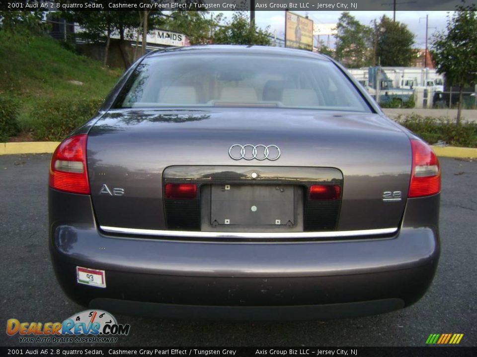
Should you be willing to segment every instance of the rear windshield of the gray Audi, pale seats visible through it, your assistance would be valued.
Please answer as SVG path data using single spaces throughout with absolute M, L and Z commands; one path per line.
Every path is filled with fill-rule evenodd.
M 208 54 L 145 59 L 115 108 L 277 107 L 370 112 L 330 61 Z

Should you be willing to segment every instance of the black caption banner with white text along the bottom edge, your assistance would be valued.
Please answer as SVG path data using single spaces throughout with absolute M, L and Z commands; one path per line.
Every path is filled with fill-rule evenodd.
M 0 356 L 359 356 L 465 357 L 477 347 L 0 347 Z

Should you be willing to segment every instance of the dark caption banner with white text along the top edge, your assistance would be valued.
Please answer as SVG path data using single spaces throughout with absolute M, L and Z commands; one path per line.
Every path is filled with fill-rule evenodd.
M 468 0 L 466 5 L 476 4 Z M 452 11 L 461 0 L 0 0 L 1 10 Z

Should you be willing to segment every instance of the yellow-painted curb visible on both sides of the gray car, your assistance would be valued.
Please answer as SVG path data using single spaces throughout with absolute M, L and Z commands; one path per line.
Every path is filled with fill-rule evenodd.
M 17 143 L 0 143 L 0 155 L 15 154 L 52 154 L 60 143 L 57 141 L 32 141 Z M 456 146 L 434 146 L 437 156 L 453 158 L 477 158 L 477 148 Z

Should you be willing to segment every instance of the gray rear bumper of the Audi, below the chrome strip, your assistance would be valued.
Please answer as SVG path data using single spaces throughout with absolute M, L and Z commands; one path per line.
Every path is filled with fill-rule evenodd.
M 126 314 L 290 320 L 382 313 L 422 297 L 439 258 L 437 228 L 415 222 L 387 238 L 280 243 L 118 238 L 99 232 L 92 214 L 76 222 L 50 225 L 60 285 L 80 304 Z M 104 270 L 106 288 L 78 284 L 77 266 Z

